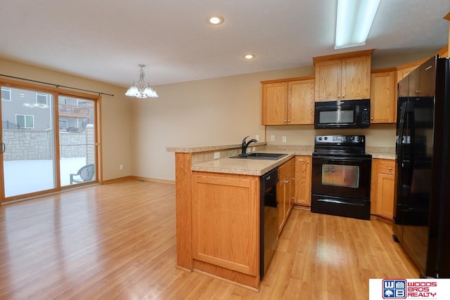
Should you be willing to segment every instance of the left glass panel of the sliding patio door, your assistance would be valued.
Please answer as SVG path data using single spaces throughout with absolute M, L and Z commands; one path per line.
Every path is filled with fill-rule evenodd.
M 4 197 L 56 188 L 53 94 L 1 86 Z

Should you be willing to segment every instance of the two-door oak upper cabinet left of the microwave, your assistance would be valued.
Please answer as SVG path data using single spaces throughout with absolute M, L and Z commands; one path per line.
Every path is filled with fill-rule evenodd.
M 314 77 L 261 81 L 262 124 L 314 124 Z

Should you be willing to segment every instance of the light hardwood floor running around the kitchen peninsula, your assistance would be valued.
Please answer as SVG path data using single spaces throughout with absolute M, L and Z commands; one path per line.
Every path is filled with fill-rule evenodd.
M 122 181 L 0 207 L 0 299 L 367 299 L 418 278 L 391 226 L 294 209 L 260 292 L 176 269 L 175 186 Z

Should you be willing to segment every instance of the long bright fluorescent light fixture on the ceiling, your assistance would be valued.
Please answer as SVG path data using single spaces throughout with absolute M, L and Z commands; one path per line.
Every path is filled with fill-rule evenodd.
M 338 0 L 335 49 L 363 46 L 380 0 Z

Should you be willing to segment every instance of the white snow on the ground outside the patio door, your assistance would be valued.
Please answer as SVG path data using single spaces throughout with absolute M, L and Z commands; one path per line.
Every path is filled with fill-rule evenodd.
M 61 186 L 70 184 L 70 174 L 86 165 L 86 157 L 61 158 Z M 4 162 L 5 196 L 11 197 L 55 188 L 53 160 L 11 160 Z

